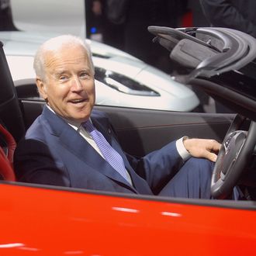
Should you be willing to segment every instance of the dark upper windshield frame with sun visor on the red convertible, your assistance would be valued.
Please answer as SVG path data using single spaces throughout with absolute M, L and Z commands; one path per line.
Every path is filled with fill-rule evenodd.
M 177 80 L 197 86 L 223 105 L 256 121 L 256 39 L 227 28 L 149 26 L 172 61 L 186 74 Z

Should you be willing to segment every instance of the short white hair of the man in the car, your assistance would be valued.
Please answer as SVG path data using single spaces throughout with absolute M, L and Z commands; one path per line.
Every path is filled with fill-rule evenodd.
M 88 61 L 90 68 L 95 73 L 95 68 L 92 62 L 92 51 L 88 43 L 85 42 L 85 40 L 82 40 L 78 36 L 73 35 L 63 35 L 63 36 L 57 36 L 53 37 L 50 40 L 47 40 L 45 43 L 43 43 L 39 49 L 36 51 L 36 55 L 34 57 L 34 63 L 33 67 L 36 72 L 36 76 L 45 79 L 45 55 L 47 52 L 56 52 L 57 50 L 60 50 L 61 47 L 64 45 L 81 45 L 85 48 L 85 52 L 88 56 Z

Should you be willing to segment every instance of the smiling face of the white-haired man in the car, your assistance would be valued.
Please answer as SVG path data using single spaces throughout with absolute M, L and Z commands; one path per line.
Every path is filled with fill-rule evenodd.
M 85 48 L 66 46 L 48 52 L 45 60 L 46 79 L 36 79 L 40 94 L 59 116 L 84 122 L 95 104 L 94 75 Z

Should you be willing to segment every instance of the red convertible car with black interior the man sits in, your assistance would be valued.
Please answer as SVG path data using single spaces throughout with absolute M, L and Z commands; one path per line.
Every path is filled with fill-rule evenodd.
M 109 115 L 124 150 L 133 155 L 142 156 L 183 135 L 223 142 L 213 171 L 214 199 L 16 182 L 13 150 L 45 103 L 33 99 L 36 90 L 16 92 L 1 47 L 0 255 L 255 254 L 256 41 L 232 29 L 149 30 L 182 68 L 179 79 L 233 113 L 95 108 Z M 243 200 L 228 199 L 235 185 Z

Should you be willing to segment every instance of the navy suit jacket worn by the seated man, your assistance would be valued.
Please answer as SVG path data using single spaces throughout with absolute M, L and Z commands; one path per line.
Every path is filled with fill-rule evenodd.
M 160 192 L 183 163 L 175 142 L 140 159 L 132 157 L 123 152 L 103 112 L 93 111 L 91 119 L 123 157 L 133 185 L 47 107 L 16 148 L 14 167 L 18 181 L 151 195 Z

